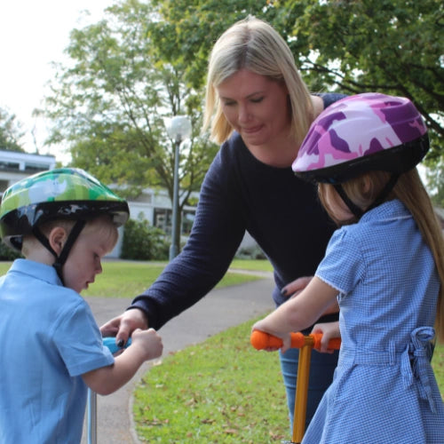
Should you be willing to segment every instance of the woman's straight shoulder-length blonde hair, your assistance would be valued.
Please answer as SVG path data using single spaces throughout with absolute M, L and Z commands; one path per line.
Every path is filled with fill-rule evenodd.
M 211 125 L 211 139 L 218 144 L 231 136 L 233 128 L 226 121 L 216 88 L 242 68 L 285 83 L 289 91 L 290 133 L 299 146 L 313 121 L 310 92 L 288 44 L 268 23 L 252 16 L 228 28 L 211 51 L 202 131 Z

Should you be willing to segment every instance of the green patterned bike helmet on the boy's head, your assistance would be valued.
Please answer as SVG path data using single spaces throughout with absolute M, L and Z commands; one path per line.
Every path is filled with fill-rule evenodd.
M 60 168 L 37 173 L 10 186 L 0 207 L 0 236 L 21 250 L 21 238 L 55 219 L 88 220 L 102 214 L 122 226 L 128 203 L 84 170 Z

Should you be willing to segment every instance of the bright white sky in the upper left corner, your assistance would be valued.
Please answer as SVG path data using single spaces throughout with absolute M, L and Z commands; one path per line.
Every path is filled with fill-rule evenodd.
M 20 145 L 29 152 L 56 155 L 67 162 L 61 147 L 43 147 L 47 123 L 32 117 L 41 107 L 44 84 L 53 75 L 51 62 L 63 61 L 74 28 L 103 18 L 115 0 L 4 0 L 0 5 L 0 107 L 16 115 L 26 136 Z M 89 12 L 89 13 L 86 13 Z M 31 131 L 35 129 L 36 144 Z

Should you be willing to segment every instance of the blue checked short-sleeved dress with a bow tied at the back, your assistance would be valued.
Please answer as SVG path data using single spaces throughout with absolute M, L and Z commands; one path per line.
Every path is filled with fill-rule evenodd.
M 338 229 L 316 275 L 339 291 L 342 347 L 302 442 L 443 444 L 429 361 L 440 282 L 408 210 L 385 202 Z

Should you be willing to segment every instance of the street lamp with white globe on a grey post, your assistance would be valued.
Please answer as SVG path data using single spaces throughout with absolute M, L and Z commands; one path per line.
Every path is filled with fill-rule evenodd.
M 174 185 L 172 199 L 172 228 L 171 228 L 171 245 L 170 260 L 178 255 L 178 243 L 180 242 L 180 234 L 178 235 L 178 148 L 182 140 L 191 136 L 191 123 L 186 115 L 176 115 L 169 119 L 166 123 L 168 135 L 174 140 Z

